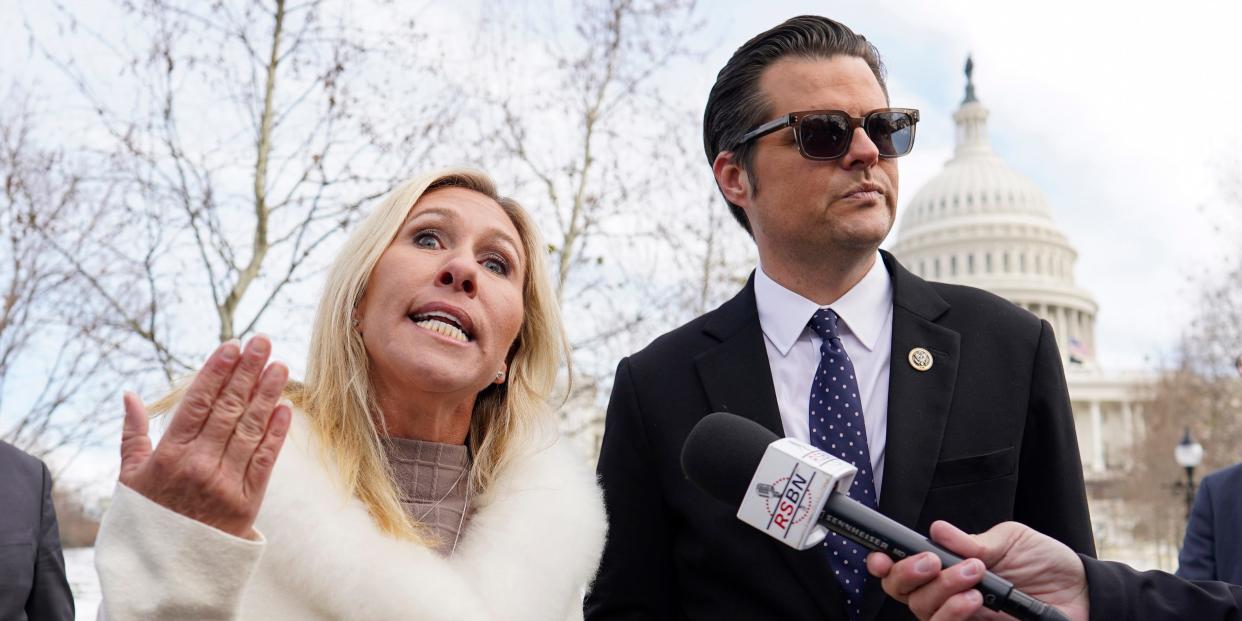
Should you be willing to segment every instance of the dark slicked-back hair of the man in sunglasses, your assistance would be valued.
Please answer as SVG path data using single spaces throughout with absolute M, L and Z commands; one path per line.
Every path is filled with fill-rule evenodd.
M 733 150 L 735 160 L 750 176 L 751 189 L 756 193 L 759 180 L 753 170 L 754 143 L 737 143 L 746 132 L 771 120 L 770 117 L 775 112 L 769 109 L 769 102 L 759 91 L 759 77 L 768 66 L 790 56 L 807 60 L 833 56 L 862 58 L 876 75 L 879 88 L 884 91 L 884 99 L 888 99 L 884 63 L 879 58 L 879 50 L 845 24 L 816 15 L 802 15 L 746 41 L 733 52 L 729 62 L 715 76 L 715 84 L 707 97 L 707 108 L 703 111 L 703 150 L 707 153 L 708 164 L 715 161 L 720 152 Z M 727 197 L 725 202 L 728 200 Z M 729 211 L 741 227 L 754 236 L 741 207 L 729 202 Z

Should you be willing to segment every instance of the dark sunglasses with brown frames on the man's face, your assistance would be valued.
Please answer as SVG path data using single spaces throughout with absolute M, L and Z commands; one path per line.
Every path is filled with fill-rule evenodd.
M 900 158 L 914 147 L 914 124 L 918 122 L 919 111 L 914 108 L 879 108 L 861 118 L 851 117 L 845 111 L 791 112 L 751 129 L 733 148 L 792 127 L 794 140 L 804 158 L 837 159 L 850 150 L 854 129 L 861 127 L 879 149 L 881 158 Z

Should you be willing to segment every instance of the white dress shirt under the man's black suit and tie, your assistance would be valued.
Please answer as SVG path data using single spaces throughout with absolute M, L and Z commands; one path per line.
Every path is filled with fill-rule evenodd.
M 810 442 L 811 380 L 820 366 L 822 339 L 807 325 L 821 307 L 755 270 L 755 306 L 776 389 L 785 435 Z M 876 494 L 884 481 L 888 433 L 888 368 L 893 349 L 893 281 L 877 253 L 867 276 L 831 308 L 841 317 L 841 343 L 854 365 Z

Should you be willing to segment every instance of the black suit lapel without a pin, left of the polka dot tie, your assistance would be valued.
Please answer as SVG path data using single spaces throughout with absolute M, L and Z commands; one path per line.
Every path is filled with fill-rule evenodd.
M 712 410 L 745 416 L 784 437 L 785 426 L 755 307 L 754 274 L 738 296 L 708 318 L 703 332 L 720 340 L 694 359 Z M 799 551 L 776 542 L 771 544 L 780 550 L 780 556 L 825 617 L 837 619 L 845 611 L 845 597 L 822 549 Z

